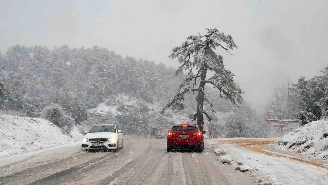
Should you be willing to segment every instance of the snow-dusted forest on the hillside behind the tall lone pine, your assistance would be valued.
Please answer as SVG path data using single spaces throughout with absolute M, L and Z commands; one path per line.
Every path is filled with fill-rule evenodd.
M 174 122 L 191 120 L 195 111 L 195 95 L 186 95 L 183 106 L 174 106 L 165 114 L 149 108 L 164 107 L 177 92 L 183 77 L 174 77 L 176 69 L 163 63 L 122 58 L 106 48 L 69 48 L 16 45 L 0 55 L 1 110 L 14 110 L 20 116 L 45 118 L 59 127 L 95 124 L 88 109 L 106 102 L 117 105 L 121 114 L 106 115 L 96 123 L 116 123 L 126 134 L 154 136 L 165 134 Z M 265 137 L 267 123 L 247 102 L 237 108 L 206 88 L 207 98 L 216 113 L 205 123 L 210 137 Z M 136 99 L 138 106 L 117 101 L 119 94 Z M 211 112 L 210 105 L 205 109 Z M 55 114 L 56 118 L 51 116 Z M 99 117 L 99 116 L 98 116 Z M 100 121 L 99 121 L 100 120 Z

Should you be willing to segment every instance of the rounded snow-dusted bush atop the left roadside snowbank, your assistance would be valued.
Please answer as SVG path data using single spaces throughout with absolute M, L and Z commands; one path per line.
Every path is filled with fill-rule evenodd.
M 43 110 L 42 118 L 51 121 L 66 135 L 71 135 L 74 119 L 58 104 L 51 104 Z

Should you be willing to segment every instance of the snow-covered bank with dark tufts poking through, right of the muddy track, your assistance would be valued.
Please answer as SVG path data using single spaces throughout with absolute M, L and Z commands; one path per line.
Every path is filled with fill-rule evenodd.
M 276 148 L 328 159 L 328 120 L 311 122 L 282 136 Z

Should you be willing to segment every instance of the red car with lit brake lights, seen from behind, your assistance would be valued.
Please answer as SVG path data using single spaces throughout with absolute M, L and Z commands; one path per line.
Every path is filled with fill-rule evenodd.
M 178 124 L 168 130 L 166 137 L 166 150 L 190 148 L 203 152 L 205 131 L 201 132 L 196 125 Z

